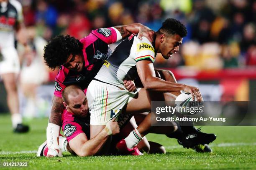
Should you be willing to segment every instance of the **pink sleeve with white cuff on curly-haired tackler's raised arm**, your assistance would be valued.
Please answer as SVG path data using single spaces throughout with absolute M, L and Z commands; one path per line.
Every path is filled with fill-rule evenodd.
M 122 35 L 114 27 L 99 28 L 97 30 L 93 30 L 92 34 L 107 44 L 112 44 L 122 39 Z

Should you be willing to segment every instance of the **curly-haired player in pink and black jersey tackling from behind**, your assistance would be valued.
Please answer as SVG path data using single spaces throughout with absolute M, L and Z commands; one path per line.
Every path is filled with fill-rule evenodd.
M 86 88 L 104 64 L 104 60 L 110 55 L 108 44 L 117 42 L 131 33 L 138 33 L 140 37 L 146 36 L 153 40 L 154 31 L 139 23 L 134 23 L 125 26 L 100 28 L 92 31 L 81 40 L 69 35 L 59 35 L 46 45 L 44 49 L 46 65 L 52 69 L 61 67 L 55 79 L 54 98 L 49 124 L 46 129 L 50 157 L 62 155 L 57 141 L 61 114 L 64 110 L 63 100 L 60 96 L 62 90 L 71 84 L 78 84 L 83 89 Z M 128 88 L 130 86 L 128 85 Z

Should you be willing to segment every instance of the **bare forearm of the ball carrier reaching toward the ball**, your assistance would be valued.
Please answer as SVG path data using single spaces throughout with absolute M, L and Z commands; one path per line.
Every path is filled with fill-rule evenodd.
M 184 89 L 184 84 L 168 82 L 158 77 L 151 77 L 141 81 L 146 90 L 158 92 L 176 92 Z

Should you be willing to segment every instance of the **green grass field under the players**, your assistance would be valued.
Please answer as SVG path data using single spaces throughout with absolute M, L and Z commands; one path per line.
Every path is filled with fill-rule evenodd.
M 256 169 L 256 127 L 203 127 L 202 131 L 215 133 L 217 139 L 210 144 L 213 153 L 195 153 L 183 149 L 174 139 L 164 135 L 149 134 L 148 140 L 165 146 L 165 155 L 92 156 L 79 158 L 64 153 L 62 158 L 37 158 L 36 150 L 46 140 L 47 119 L 35 119 L 28 123 L 27 134 L 12 133 L 10 116 L 0 115 L 0 165 L 3 162 L 28 162 L 25 169 Z M 15 168 L 17 169 L 17 168 Z

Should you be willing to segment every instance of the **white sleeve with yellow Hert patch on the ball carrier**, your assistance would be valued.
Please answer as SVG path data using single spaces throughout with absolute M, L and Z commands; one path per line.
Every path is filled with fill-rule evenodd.
M 148 60 L 154 63 L 156 53 L 151 42 L 146 37 L 143 37 L 142 40 L 135 37 L 134 42 L 134 51 L 136 51 L 133 55 L 134 60 L 136 60 L 136 62 Z

